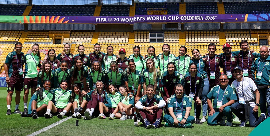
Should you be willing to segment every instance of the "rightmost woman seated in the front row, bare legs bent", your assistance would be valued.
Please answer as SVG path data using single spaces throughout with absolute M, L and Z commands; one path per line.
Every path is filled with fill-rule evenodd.
M 118 103 L 114 112 L 110 114 L 109 119 L 114 119 L 114 116 L 119 120 L 133 119 L 134 116 L 134 97 L 129 97 L 127 93 L 127 87 L 122 85 L 119 87 L 119 92 L 121 93 L 121 102 Z M 120 112 L 119 112 L 120 111 Z

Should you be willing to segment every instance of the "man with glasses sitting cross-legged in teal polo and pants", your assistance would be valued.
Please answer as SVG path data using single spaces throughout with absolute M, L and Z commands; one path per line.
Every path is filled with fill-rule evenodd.
M 165 127 L 192 128 L 195 121 L 193 116 L 189 116 L 192 99 L 184 94 L 182 84 L 177 84 L 175 94 L 168 99 L 168 110 L 170 115 L 164 115 Z

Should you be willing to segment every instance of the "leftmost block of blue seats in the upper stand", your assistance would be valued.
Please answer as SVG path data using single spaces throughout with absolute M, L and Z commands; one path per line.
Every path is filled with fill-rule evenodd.
M 0 5 L 1 16 L 21 16 L 27 5 Z

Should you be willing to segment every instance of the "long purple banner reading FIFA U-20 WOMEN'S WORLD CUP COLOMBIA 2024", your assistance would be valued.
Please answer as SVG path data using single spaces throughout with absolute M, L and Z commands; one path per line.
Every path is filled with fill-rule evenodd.
M 135 15 L 135 17 L 89 16 L 0 16 L 0 23 L 134 24 L 185 22 L 260 22 L 270 14 Z

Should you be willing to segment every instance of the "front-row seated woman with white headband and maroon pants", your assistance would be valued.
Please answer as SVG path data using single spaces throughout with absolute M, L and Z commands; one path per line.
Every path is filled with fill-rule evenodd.
M 98 80 L 96 82 L 96 88 L 87 93 L 87 96 L 91 97 L 91 100 L 88 101 L 87 109 L 84 112 L 83 119 L 91 119 L 94 111 L 99 110 L 99 116 L 106 118 L 103 114 L 104 107 L 111 108 L 112 102 L 108 96 L 108 93 L 104 90 L 104 84 L 102 81 Z M 107 103 L 106 103 L 107 102 Z M 108 111 L 106 111 L 108 112 Z M 94 115 L 98 114 L 97 112 Z

